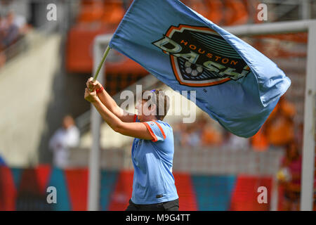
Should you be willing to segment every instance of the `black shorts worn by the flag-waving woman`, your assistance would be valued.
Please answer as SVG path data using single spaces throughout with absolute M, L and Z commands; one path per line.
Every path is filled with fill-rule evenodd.
M 130 199 L 125 211 L 179 211 L 179 199 L 149 205 L 138 205 Z

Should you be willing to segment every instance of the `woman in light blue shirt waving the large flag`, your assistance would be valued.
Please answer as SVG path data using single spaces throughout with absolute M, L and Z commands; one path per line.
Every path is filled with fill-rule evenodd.
M 126 210 L 177 211 L 178 194 L 172 174 L 173 130 L 163 122 L 169 97 L 162 90 L 143 91 L 138 115 L 119 108 L 99 82 L 88 79 L 84 98 L 116 132 L 134 137 L 131 157 L 133 193 Z

